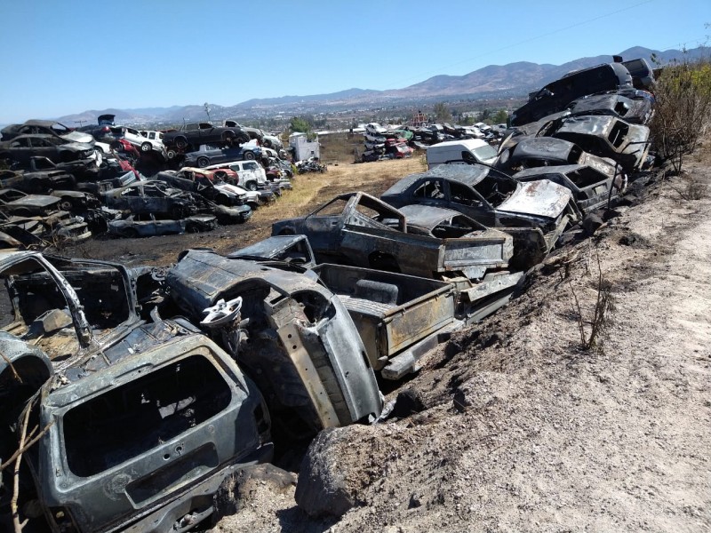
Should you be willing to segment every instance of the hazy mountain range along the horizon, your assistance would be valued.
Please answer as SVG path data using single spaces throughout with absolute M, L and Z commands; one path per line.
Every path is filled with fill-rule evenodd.
M 686 52 L 667 50 L 659 52 L 642 46 L 635 46 L 619 52 L 624 59 L 645 58 L 652 56 L 661 64 L 684 58 L 695 60 L 708 57 L 711 48 L 700 46 Z M 600 63 L 609 63 L 611 55 L 599 55 L 580 58 L 563 65 L 550 65 L 520 61 L 507 65 L 489 65 L 463 76 L 433 76 L 418 84 L 389 91 L 367 89 L 348 89 L 329 94 L 307 96 L 282 96 L 268 99 L 249 99 L 233 106 L 210 104 L 210 115 L 215 121 L 229 117 L 268 116 L 277 113 L 300 114 L 319 111 L 336 111 L 354 107 L 372 107 L 395 105 L 406 102 L 431 101 L 435 99 L 456 98 L 494 98 L 523 97 L 530 91 L 551 82 L 572 70 L 594 67 Z M 182 123 L 204 120 L 204 105 L 148 107 L 140 109 L 103 109 L 89 110 L 76 115 L 61 116 L 61 123 L 95 123 L 99 115 L 114 113 L 116 122 L 124 123 Z

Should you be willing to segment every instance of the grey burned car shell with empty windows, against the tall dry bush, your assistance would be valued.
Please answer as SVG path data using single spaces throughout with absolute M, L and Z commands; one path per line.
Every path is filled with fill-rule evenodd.
M 570 140 L 589 154 L 609 157 L 628 174 L 649 162 L 650 129 L 611 115 L 571 116 L 547 135 Z

